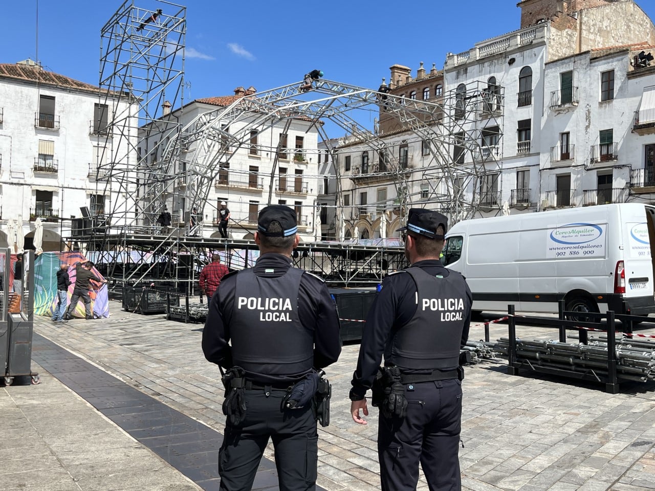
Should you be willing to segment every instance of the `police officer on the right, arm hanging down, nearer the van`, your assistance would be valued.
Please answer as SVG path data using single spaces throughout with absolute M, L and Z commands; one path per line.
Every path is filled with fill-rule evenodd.
M 413 208 L 407 227 L 400 230 L 411 267 L 387 276 L 371 306 L 352 379 L 350 413 L 356 423 L 366 424 L 360 410 L 368 415 L 365 394 L 384 354 L 383 373 L 395 377 L 393 384 L 382 379 L 383 400 L 378 402 L 383 491 L 415 490 L 419 462 L 430 491 L 458 491 L 464 378 L 459 352 L 468 339 L 472 295 L 464 277 L 439 260 L 445 216 Z

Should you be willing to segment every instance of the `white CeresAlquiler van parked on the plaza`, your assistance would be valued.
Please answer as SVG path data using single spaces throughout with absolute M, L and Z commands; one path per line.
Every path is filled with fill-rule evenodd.
M 474 310 L 655 312 L 655 207 L 622 203 L 465 220 L 443 263 L 466 276 Z

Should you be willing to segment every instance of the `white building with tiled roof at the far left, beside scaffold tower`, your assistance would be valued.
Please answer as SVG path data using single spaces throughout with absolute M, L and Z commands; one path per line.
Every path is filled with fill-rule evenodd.
M 112 148 L 136 159 L 126 140 L 112 141 L 111 115 L 126 109 L 126 102 L 106 96 L 101 101 L 97 87 L 31 60 L 0 64 L 0 223 L 20 217 L 29 245 L 33 221 L 40 217 L 43 249 L 60 251 L 71 247 L 62 238 L 71 235 L 71 218 L 81 217 L 81 208 L 97 215 L 120 206 L 125 196 L 117 186 L 96 179 Z M 129 138 L 130 128 L 121 134 Z M 0 245 L 13 244 L 4 228 Z

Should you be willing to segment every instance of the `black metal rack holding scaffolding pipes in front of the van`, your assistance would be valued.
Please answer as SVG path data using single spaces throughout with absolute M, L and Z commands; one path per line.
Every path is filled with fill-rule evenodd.
M 532 342 L 517 340 L 516 323 L 536 327 L 550 327 L 559 332 L 559 342 Z M 589 320 L 593 319 L 593 321 Z M 616 321 L 621 323 L 617 325 Z M 595 312 L 567 312 L 563 301 L 559 305 L 559 318 L 515 316 L 514 305 L 508 306 L 508 338 L 500 338 L 495 350 L 508 357 L 508 374 L 518 375 L 521 370 L 566 376 L 605 384 L 605 391 L 618 393 L 619 379 L 646 382 L 655 375 L 655 343 L 648 348 L 631 348 L 628 340 L 620 339 L 620 352 L 631 348 L 635 353 L 621 358 L 617 353 L 616 334 L 631 335 L 635 325 L 653 318 L 629 314 Z M 567 332 L 577 331 L 578 344 L 567 344 Z M 593 340 L 589 346 L 589 331 L 607 334 L 607 339 Z M 507 343 L 506 348 L 504 343 Z M 645 346 L 647 342 L 643 343 Z M 650 352 L 650 353 L 648 353 Z

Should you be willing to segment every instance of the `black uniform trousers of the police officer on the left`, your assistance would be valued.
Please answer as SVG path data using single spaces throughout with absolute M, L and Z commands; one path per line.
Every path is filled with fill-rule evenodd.
M 246 418 L 227 422 L 219 451 L 221 491 L 250 491 L 269 438 L 275 449 L 280 491 L 316 490 L 318 433 L 313 407 L 282 409 L 286 391 L 244 391 Z

